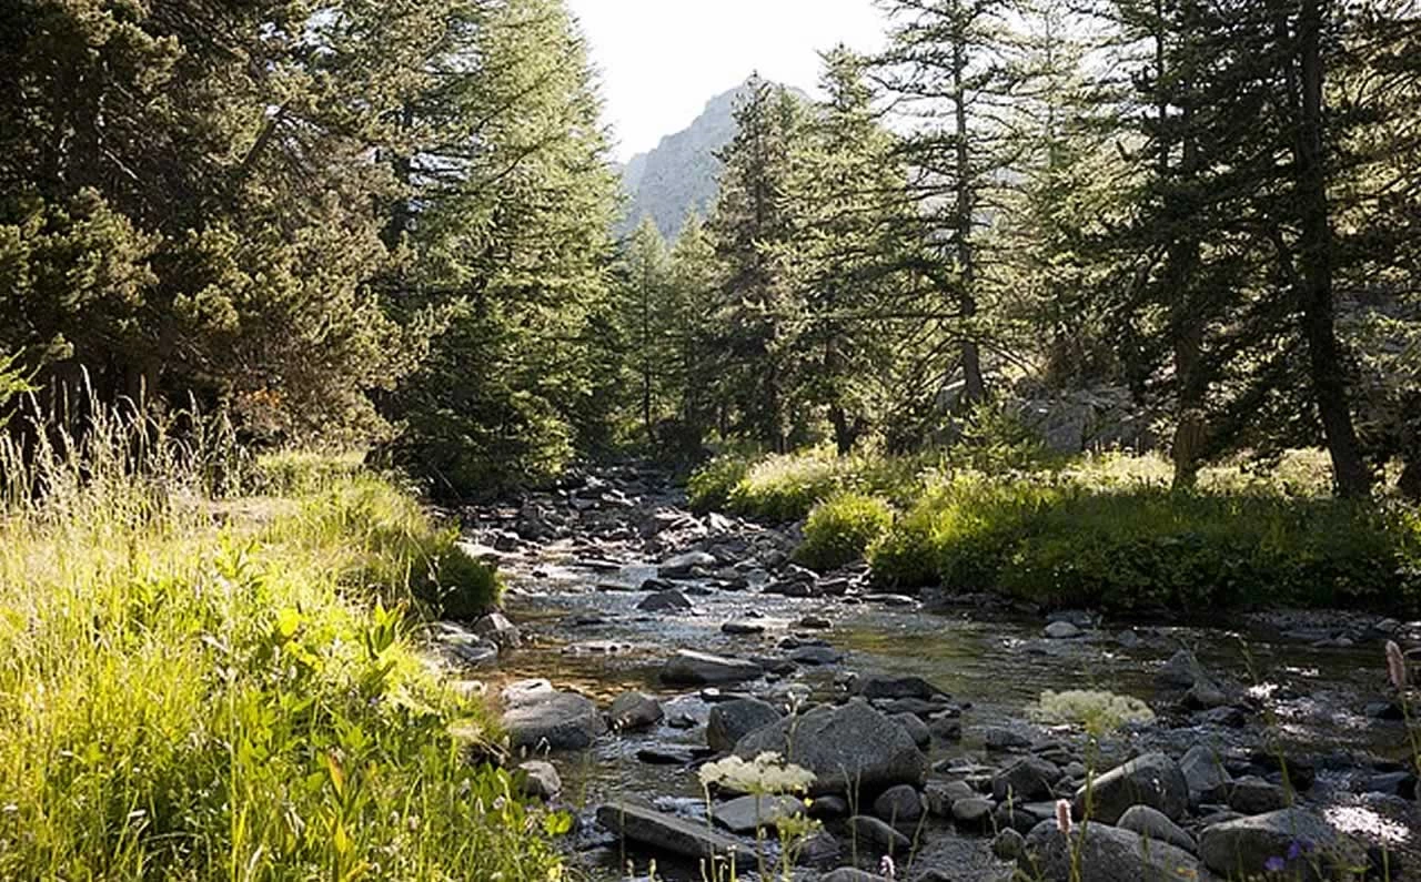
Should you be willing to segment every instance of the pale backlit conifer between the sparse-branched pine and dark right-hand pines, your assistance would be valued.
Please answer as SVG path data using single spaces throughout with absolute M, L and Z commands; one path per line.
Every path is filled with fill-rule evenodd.
M 1123 379 L 1120 341 L 1096 295 L 1108 264 L 1093 256 L 1127 210 L 1128 173 L 1111 141 L 1121 126 L 1115 88 L 1087 78 L 1098 30 L 1079 4 L 1023 0 L 1006 58 L 1020 85 L 1005 118 L 1015 180 L 995 233 L 1003 324 L 1050 389 Z

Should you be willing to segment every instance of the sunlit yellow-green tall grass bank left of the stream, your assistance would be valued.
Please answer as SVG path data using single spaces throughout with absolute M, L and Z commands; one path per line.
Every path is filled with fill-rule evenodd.
M 509 775 L 468 761 L 486 710 L 411 639 L 429 604 L 493 601 L 450 531 L 354 462 L 215 499 L 236 470 L 190 439 L 85 446 L 0 450 L 0 878 L 557 872 Z

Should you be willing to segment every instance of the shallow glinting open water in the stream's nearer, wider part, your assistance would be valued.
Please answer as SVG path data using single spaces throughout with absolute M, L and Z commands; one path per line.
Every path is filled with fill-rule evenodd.
M 1160 709 L 1155 726 L 1113 733 L 1098 746 L 1101 761 L 1124 758 L 1131 750 L 1167 748 L 1182 753 L 1195 743 L 1221 750 L 1266 747 L 1280 756 L 1306 756 L 1317 763 L 1319 793 L 1346 794 L 1354 757 L 1401 760 L 1405 733 L 1400 724 L 1366 716 L 1368 702 L 1383 695 L 1380 643 L 1320 648 L 1282 641 L 1276 632 L 1239 618 L 1216 628 L 1148 626 L 1125 635 L 1125 626 L 1087 629 L 1083 639 L 1049 641 L 1039 618 L 992 616 L 966 612 L 925 612 L 917 605 L 888 605 L 872 598 L 793 599 L 755 592 L 706 589 L 688 584 L 691 611 L 641 612 L 645 594 L 637 587 L 655 575 L 648 561 L 612 561 L 620 568 L 578 564 L 570 544 L 553 544 L 536 557 L 504 562 L 510 572 L 507 614 L 523 631 L 523 648 L 500 659 L 497 680 L 546 677 L 560 689 L 576 689 L 600 703 L 625 690 L 639 690 L 678 713 L 703 723 L 709 704 L 701 690 L 666 687 L 658 672 L 678 649 L 732 656 L 783 656 L 780 642 L 824 639 L 845 653 L 840 665 L 803 668 L 769 683 L 735 687 L 757 697 L 789 703 L 807 690 L 814 699 L 841 695 L 845 672 L 918 675 L 966 706 L 961 743 L 934 744 L 934 761 L 949 757 L 989 758 L 980 726 L 1007 726 L 1027 737 L 1057 737 L 1074 744 L 1084 734 L 1033 720 L 1044 692 L 1103 689 L 1133 696 Z M 806 632 L 794 624 L 804 615 L 833 621 L 828 631 Z M 730 619 L 756 619 L 766 632 L 735 636 L 720 631 Z M 1242 729 L 1195 724 L 1157 703 L 1155 669 L 1175 650 L 1192 649 L 1212 675 L 1248 687 L 1258 713 Z M 496 685 L 496 683 L 495 683 Z M 725 692 L 733 692 L 728 689 Z M 713 696 L 712 696 L 713 697 Z M 564 800 L 574 808 L 637 798 L 681 814 L 703 817 L 703 793 L 693 767 L 655 766 L 637 758 L 651 746 L 703 746 L 703 726 L 612 734 L 584 754 L 551 757 L 564 780 Z M 1330 757 L 1330 758 L 1329 758 Z M 1320 761 L 1319 761 L 1320 758 Z M 1380 817 L 1360 815 L 1357 824 L 1385 825 Z M 1376 831 L 1373 831 L 1376 832 Z M 1414 846 L 1415 831 L 1381 831 Z M 1401 841 L 1407 841 L 1403 844 Z M 604 878 L 627 878 L 627 855 L 620 846 L 584 842 L 590 864 Z M 598 846 L 600 845 L 600 846 Z M 932 829 L 919 841 L 917 861 L 955 868 L 956 878 L 1005 878 L 1010 868 L 993 861 L 989 838 Z M 638 866 L 637 872 L 644 872 Z M 661 864 L 661 878 L 699 878 L 699 871 Z M 908 876 L 902 876 L 908 878 Z

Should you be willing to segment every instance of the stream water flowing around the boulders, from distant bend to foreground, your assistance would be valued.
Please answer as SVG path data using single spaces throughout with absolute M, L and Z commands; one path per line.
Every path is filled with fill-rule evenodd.
M 651 470 L 630 467 L 584 481 L 517 506 L 470 510 L 465 521 L 472 548 L 499 561 L 509 584 L 504 614 L 520 631 L 516 649 L 477 672 L 490 692 L 543 679 L 603 709 L 618 695 L 641 692 L 665 712 L 648 729 L 614 731 L 588 750 L 547 757 L 561 777 L 561 802 L 580 814 L 577 858 L 594 878 L 639 876 L 655 861 L 661 879 L 699 879 L 696 862 L 622 844 L 598 828 L 591 810 L 635 800 L 705 824 L 698 763 L 674 757 L 709 753 L 710 707 L 742 695 L 780 707 L 831 704 L 844 699 L 854 675 L 919 676 L 951 696 L 953 714 L 961 710 L 961 737 L 932 739 L 925 753 L 942 771 L 929 781 L 976 768 L 972 783 L 980 788 L 980 775 L 1015 754 L 1110 768 L 1141 753 L 1178 757 L 1205 744 L 1229 758 L 1231 771 L 1260 780 L 1279 781 L 1269 757 L 1283 758 L 1313 780 L 1306 800 L 1331 812 L 1334 825 L 1388 852 L 1410 855 L 1418 846 L 1415 778 L 1398 777 L 1407 731 L 1383 719 L 1394 716 L 1385 712 L 1383 643 L 1421 636 L 1418 624 L 1300 612 L 1231 615 L 1215 626 L 1106 624 L 1086 612 L 1046 616 L 993 598 L 874 595 L 857 572 L 826 574 L 791 591 L 818 594 L 816 585 L 847 578 L 843 597 L 786 597 L 776 585 L 787 584 L 783 577 L 794 570 L 784 561 L 791 528 L 692 516 L 679 491 Z M 688 550 L 709 552 L 716 565 L 658 582 L 658 565 Z M 664 591 L 679 592 L 691 608 L 639 609 Z M 1067 622 L 1071 636 L 1046 636 L 1052 619 Z M 726 622 L 753 628 L 728 633 Z M 740 632 L 755 628 L 763 631 Z M 841 658 L 786 662 L 803 646 L 823 646 L 821 660 Z M 681 649 L 756 659 L 770 670 L 745 683 L 668 685 L 662 669 Z M 1188 709 L 1161 689 L 1158 675 L 1179 650 L 1194 653 L 1228 702 Z M 1130 696 L 1155 719 L 1090 737 L 1080 726 L 1040 717 L 1043 693 L 1066 690 Z M 648 751 L 662 760 L 644 761 Z M 898 878 L 1012 873 L 1010 861 L 993 854 L 993 837 L 979 828 L 928 817 L 907 832 L 915 846 Z M 850 862 L 847 854 L 843 862 Z M 868 856 L 860 864 L 875 868 Z

